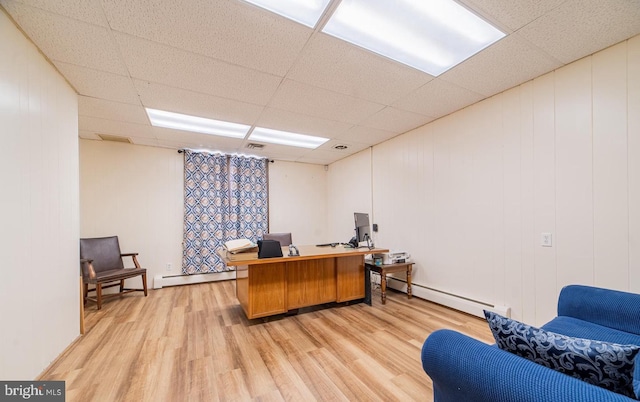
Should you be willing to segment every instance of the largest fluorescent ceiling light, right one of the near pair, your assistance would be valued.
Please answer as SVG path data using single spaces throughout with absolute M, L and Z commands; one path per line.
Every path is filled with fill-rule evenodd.
M 505 36 L 453 0 L 342 0 L 322 31 L 433 76 Z

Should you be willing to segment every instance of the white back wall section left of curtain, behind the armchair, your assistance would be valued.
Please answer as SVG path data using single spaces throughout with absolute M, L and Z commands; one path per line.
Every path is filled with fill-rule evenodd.
M 156 275 L 180 275 L 183 183 L 176 150 L 80 140 L 80 236 L 117 235 L 122 252 L 139 253 L 150 287 Z M 140 278 L 127 285 L 142 288 Z

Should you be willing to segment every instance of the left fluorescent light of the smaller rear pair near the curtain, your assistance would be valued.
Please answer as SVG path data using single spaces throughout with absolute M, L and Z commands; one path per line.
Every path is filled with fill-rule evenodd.
M 174 128 L 176 130 L 193 131 L 196 133 L 232 138 L 244 138 L 249 132 L 249 128 L 251 128 L 251 126 L 244 124 L 166 112 L 164 110 L 145 109 L 147 110 L 151 124 L 156 127 Z

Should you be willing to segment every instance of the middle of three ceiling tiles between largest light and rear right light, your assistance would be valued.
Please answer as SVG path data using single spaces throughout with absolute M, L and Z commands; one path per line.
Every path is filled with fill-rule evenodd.
M 285 80 L 271 100 L 271 107 L 355 124 L 384 106 L 337 92 Z

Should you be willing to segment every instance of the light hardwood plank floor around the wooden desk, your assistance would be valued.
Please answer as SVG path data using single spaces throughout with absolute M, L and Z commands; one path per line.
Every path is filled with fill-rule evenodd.
M 40 377 L 67 401 L 431 401 L 420 350 L 451 328 L 492 342 L 484 320 L 419 298 L 247 320 L 233 281 L 89 304 L 87 333 Z

